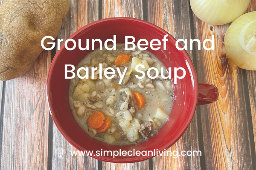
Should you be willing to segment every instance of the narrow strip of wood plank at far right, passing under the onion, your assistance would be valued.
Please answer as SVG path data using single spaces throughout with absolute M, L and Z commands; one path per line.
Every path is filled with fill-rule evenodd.
M 251 0 L 247 12 L 256 11 L 256 0 Z M 246 71 L 250 97 L 250 108 L 253 121 L 254 144 L 256 148 L 256 71 Z M 250 128 L 250 127 L 249 127 Z

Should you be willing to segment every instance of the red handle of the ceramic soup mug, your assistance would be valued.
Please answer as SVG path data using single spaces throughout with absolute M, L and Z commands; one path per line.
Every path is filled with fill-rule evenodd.
M 206 105 L 218 100 L 218 88 L 207 83 L 198 83 L 198 104 Z

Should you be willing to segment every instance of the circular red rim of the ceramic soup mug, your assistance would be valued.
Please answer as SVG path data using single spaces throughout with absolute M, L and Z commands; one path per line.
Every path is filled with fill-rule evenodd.
M 87 24 L 86 26 L 83 26 L 82 28 L 80 28 L 76 32 L 74 32 L 72 35 L 70 35 L 70 37 L 68 39 L 74 39 L 74 37 L 76 37 L 79 34 L 81 34 L 87 28 L 89 28 L 89 27 L 91 27 L 93 25 L 96 25 L 98 23 L 106 22 L 106 21 L 109 21 L 109 20 L 131 20 L 131 21 L 140 22 L 140 23 L 152 26 L 154 28 L 157 28 L 158 31 L 161 31 L 161 32 L 163 32 L 165 34 L 168 34 L 169 37 L 171 37 L 173 40 L 176 41 L 176 39 L 171 34 L 169 34 L 167 31 L 165 31 L 164 29 L 162 29 L 162 28 L 160 28 L 160 27 L 158 27 L 158 26 L 156 26 L 156 25 L 154 25 L 152 23 L 149 23 L 147 21 L 136 19 L 136 18 L 131 18 L 131 17 L 111 17 L 111 18 L 105 18 L 105 19 L 94 21 L 92 23 Z M 51 71 L 52 71 L 52 67 L 55 64 L 56 58 L 60 56 L 59 54 L 65 48 L 64 43 L 61 45 L 60 50 L 58 50 L 56 52 L 55 57 L 52 59 L 52 63 L 50 65 L 50 67 L 49 67 L 49 72 L 48 72 L 48 75 L 47 75 L 47 103 L 48 103 L 48 106 L 49 106 L 49 112 L 50 112 L 50 114 L 52 116 L 53 122 L 55 123 L 56 127 L 58 128 L 58 130 L 61 132 L 62 136 L 64 136 L 64 138 L 70 144 L 72 144 L 73 147 L 75 147 L 76 149 L 81 151 L 81 148 L 70 138 L 70 136 L 67 135 L 67 133 L 65 133 L 64 130 L 62 130 L 61 126 L 55 120 L 55 116 L 53 116 L 53 114 L 52 114 L 53 108 L 51 107 L 51 104 L 49 102 L 49 97 L 51 97 L 51 96 L 49 96 L 50 74 L 51 74 Z M 179 43 L 179 45 L 180 45 L 180 43 Z M 191 68 L 191 73 L 193 75 L 194 90 L 195 90 L 195 100 L 194 100 L 194 103 L 193 103 L 193 107 L 191 108 L 191 111 L 190 111 L 191 114 L 188 117 L 188 121 L 187 121 L 188 123 L 187 123 L 186 127 L 184 126 L 183 130 L 180 130 L 179 135 L 177 136 L 177 139 L 174 142 L 170 142 L 169 145 L 166 147 L 166 149 L 171 147 L 173 144 L 175 144 L 180 139 L 180 137 L 185 133 L 185 131 L 187 130 L 187 128 L 189 127 L 189 125 L 190 125 L 190 123 L 192 121 L 193 116 L 195 115 L 195 110 L 196 110 L 196 106 L 197 106 L 197 102 L 198 102 L 198 77 L 197 77 L 197 74 L 196 74 L 196 71 L 195 71 L 195 66 L 192 63 L 192 60 L 189 57 L 189 54 L 185 50 L 183 50 L 183 52 L 185 53 L 184 57 L 188 61 L 189 67 Z M 163 151 L 163 150 L 159 150 L 159 151 Z M 109 157 L 105 157 L 105 156 L 90 156 L 90 157 L 92 157 L 94 159 L 101 160 L 101 161 L 114 162 L 114 163 L 133 163 L 133 162 L 138 162 L 138 161 L 144 161 L 144 160 L 147 160 L 147 159 L 151 159 L 154 156 L 138 156 L 138 157 L 135 157 L 135 158 L 128 158 L 128 159 L 113 159 L 113 158 L 109 158 Z

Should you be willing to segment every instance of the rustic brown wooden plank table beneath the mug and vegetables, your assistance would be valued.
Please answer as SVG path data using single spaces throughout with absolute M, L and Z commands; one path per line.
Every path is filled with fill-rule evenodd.
M 3 0 L 0 0 L 0 3 Z M 256 10 L 256 0 L 247 9 Z M 66 40 L 79 28 L 107 17 L 135 17 L 160 26 L 176 39 L 203 40 L 215 35 L 215 51 L 187 51 L 199 82 L 216 85 L 219 99 L 198 106 L 191 125 L 170 149 L 201 150 L 202 156 L 177 159 L 157 156 L 133 164 L 114 164 L 76 150 L 58 131 L 46 97 L 46 79 L 56 53 L 43 51 L 23 76 L 0 82 L 1 170 L 140 169 L 256 170 L 256 71 L 229 62 L 224 35 L 230 24 L 209 25 L 193 14 L 189 0 L 71 0 L 58 38 Z

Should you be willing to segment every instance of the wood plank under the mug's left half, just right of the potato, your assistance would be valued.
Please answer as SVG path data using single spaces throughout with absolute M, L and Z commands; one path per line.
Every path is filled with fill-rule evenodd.
M 88 23 L 98 20 L 97 0 L 71 0 L 70 9 L 65 17 L 59 39 L 67 40 L 71 34 Z M 62 42 L 63 43 L 63 42 Z M 74 148 L 53 125 L 52 169 L 98 169 L 98 160 L 89 156 L 71 156 Z

